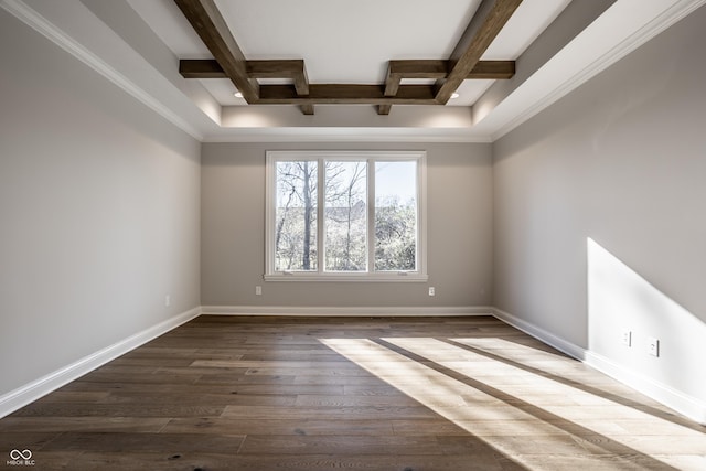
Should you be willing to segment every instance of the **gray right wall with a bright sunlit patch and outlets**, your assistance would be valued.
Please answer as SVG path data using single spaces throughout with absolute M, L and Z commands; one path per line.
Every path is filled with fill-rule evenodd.
M 704 24 L 702 8 L 493 148 L 494 306 L 702 400 Z

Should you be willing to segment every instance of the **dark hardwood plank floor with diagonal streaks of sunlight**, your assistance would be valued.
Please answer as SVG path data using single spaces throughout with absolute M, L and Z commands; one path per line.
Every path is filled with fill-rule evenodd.
M 489 317 L 204 315 L 0 420 L 15 449 L 38 470 L 705 470 L 706 427 Z

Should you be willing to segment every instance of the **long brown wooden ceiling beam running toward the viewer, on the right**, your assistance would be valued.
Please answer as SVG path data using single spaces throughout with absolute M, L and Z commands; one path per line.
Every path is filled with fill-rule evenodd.
M 448 76 L 437 81 L 437 101 L 446 104 L 451 98 L 520 3 L 522 0 L 483 0 L 481 2 L 449 57 L 452 66 Z

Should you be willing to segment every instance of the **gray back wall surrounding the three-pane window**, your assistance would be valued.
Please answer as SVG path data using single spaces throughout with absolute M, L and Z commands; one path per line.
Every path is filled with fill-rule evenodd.
M 265 282 L 265 152 L 277 149 L 427 150 L 429 282 Z M 489 306 L 490 151 L 490 144 L 469 143 L 203 144 L 202 304 Z M 263 296 L 255 296 L 257 285 Z M 428 296 L 428 286 L 436 288 L 436 297 Z

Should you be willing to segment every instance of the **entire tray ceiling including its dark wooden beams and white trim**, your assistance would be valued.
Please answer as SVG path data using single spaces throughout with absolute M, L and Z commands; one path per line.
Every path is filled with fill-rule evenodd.
M 491 142 L 705 2 L 0 0 L 0 7 L 87 64 L 87 73 L 104 75 L 202 141 Z

